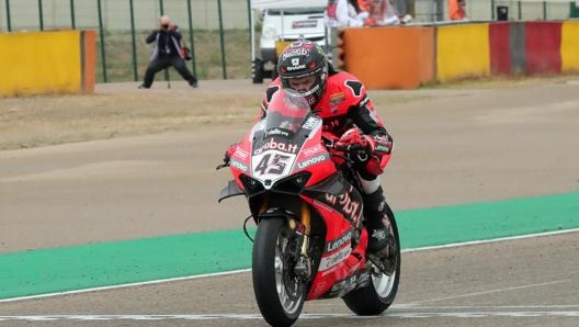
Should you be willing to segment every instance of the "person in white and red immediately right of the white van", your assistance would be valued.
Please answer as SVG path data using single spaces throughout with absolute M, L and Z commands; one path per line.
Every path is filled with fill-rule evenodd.
M 328 0 L 326 21 L 330 27 L 364 26 L 367 11 L 360 9 L 357 0 Z

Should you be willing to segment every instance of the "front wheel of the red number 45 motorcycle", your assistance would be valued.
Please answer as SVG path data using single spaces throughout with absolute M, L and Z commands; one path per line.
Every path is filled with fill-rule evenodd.
M 253 291 L 261 315 L 274 327 L 294 324 L 306 297 L 305 283 L 294 273 L 293 235 L 285 217 L 269 217 L 259 223 L 253 241 Z

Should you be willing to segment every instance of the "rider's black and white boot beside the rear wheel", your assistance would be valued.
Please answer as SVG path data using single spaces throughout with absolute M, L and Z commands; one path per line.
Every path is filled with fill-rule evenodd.
M 382 187 L 375 192 L 362 194 L 362 196 L 368 232 L 367 251 L 379 259 L 388 259 L 394 255 L 395 239 Z

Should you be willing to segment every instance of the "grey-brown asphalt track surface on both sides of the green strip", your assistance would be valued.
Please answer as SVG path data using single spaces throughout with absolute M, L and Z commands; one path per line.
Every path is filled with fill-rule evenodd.
M 243 88 L 260 97 L 262 87 Z M 421 98 L 378 108 L 396 142 L 383 177 L 388 201 L 405 211 L 578 192 L 578 90 L 571 81 L 398 91 Z M 217 204 L 229 177 L 215 166 L 247 127 L 1 151 L 0 256 L 239 228 L 247 208 L 241 200 Z M 308 302 L 295 326 L 579 326 L 579 232 L 559 232 L 406 251 L 397 300 L 383 316 L 355 317 L 341 300 Z M 241 272 L 2 301 L 0 326 L 268 325 Z

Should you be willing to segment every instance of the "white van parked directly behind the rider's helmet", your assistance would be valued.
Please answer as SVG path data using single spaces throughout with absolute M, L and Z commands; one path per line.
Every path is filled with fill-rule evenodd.
M 263 82 L 263 77 L 276 77 L 277 49 L 284 44 L 306 38 L 326 46 L 325 7 L 269 8 L 262 12 L 260 37 L 261 59 L 253 71 L 253 82 Z

